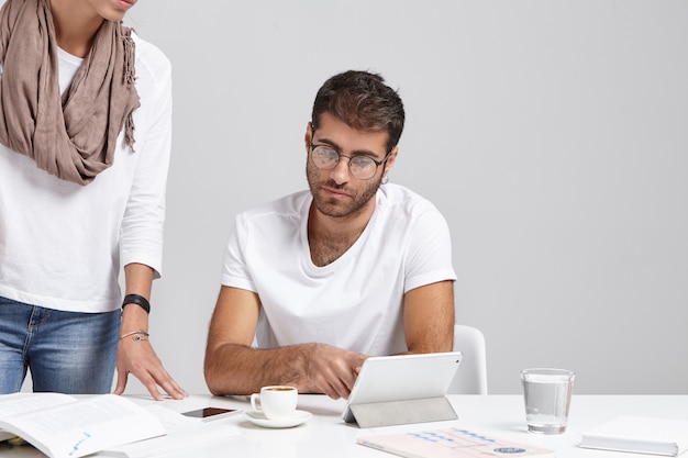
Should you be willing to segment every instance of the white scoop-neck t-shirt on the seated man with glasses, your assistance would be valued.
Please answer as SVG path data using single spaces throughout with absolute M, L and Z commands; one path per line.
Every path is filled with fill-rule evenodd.
M 360 237 L 337 260 L 317 267 L 307 235 L 311 202 L 310 191 L 301 191 L 249 210 L 230 234 L 222 284 L 260 298 L 258 346 L 406 351 L 403 294 L 456 280 L 446 221 L 412 191 L 382 185 Z

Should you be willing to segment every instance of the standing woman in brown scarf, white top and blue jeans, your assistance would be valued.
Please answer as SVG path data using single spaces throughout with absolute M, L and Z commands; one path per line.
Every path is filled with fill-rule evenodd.
M 148 340 L 163 252 L 171 70 L 122 25 L 136 0 L 0 12 L 0 393 L 179 399 Z M 124 266 L 125 294 L 119 287 Z

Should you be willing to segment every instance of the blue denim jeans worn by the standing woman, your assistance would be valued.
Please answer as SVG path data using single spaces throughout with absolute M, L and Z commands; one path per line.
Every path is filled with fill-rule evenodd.
M 0 394 L 21 389 L 101 394 L 112 391 L 120 311 L 62 312 L 0 298 Z

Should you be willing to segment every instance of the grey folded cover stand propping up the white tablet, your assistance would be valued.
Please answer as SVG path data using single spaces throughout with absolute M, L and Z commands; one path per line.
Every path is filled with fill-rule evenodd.
M 370 402 L 348 409 L 362 428 L 458 418 L 446 396 Z

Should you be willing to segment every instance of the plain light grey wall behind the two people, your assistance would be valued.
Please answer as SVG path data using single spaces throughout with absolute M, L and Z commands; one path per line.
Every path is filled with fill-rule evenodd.
M 307 186 L 315 91 L 355 68 L 406 102 L 390 177 L 448 220 L 490 392 L 555 366 L 578 393 L 688 393 L 687 1 L 142 0 L 126 22 L 174 64 L 151 332 L 188 391 L 231 219 Z

